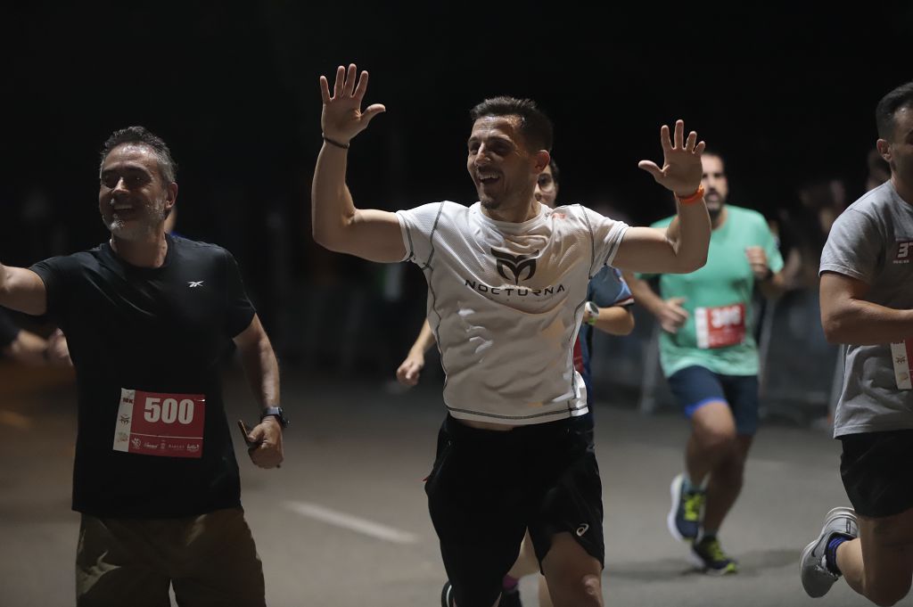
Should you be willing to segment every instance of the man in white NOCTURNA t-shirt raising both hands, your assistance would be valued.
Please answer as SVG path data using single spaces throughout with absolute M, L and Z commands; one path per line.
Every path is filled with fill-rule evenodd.
M 677 195 L 666 229 L 628 227 L 574 204 L 550 209 L 533 191 L 548 166 L 551 121 L 527 99 L 472 111 L 467 170 L 479 202 L 388 213 L 357 209 L 345 184 L 350 141 L 383 112 L 362 111 L 368 75 L 320 77 L 324 145 L 312 186 L 314 239 L 379 262 L 410 260 L 428 281 L 427 318 L 446 372 L 447 417 L 425 485 L 452 586 L 442 602 L 498 603 L 525 529 L 556 605 L 602 605 L 602 486 L 585 428 L 586 388 L 572 345 L 590 278 L 603 266 L 691 272 L 707 257 L 700 189 L 704 142 L 684 123 L 664 162 L 641 168 Z M 505 482 L 508 479 L 508 482 Z

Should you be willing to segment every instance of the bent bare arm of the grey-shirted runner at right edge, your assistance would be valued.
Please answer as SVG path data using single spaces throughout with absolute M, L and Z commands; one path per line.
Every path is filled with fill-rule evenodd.
M 834 272 L 821 276 L 821 324 L 831 343 L 858 346 L 913 338 L 913 310 L 866 301 L 869 286 Z

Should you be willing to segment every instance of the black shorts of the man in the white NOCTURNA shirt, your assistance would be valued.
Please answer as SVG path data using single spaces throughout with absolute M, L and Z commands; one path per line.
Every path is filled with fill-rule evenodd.
M 460 607 L 490 607 L 526 529 L 540 562 L 561 532 L 602 564 L 603 487 L 591 419 L 478 430 L 447 416 L 425 483 Z

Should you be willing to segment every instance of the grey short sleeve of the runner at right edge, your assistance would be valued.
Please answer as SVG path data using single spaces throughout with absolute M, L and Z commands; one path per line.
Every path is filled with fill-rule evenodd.
M 839 215 L 831 227 L 821 253 L 820 272 L 836 272 L 871 285 L 884 258 L 883 243 L 876 222 L 855 209 Z

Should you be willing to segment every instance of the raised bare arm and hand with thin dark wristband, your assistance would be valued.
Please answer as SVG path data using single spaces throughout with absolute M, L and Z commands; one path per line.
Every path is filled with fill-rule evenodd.
M 368 87 L 363 71 L 355 85 L 356 69 L 337 69 L 333 95 L 326 77 L 320 77 L 323 113 L 320 123 L 326 140 L 317 157 L 311 184 L 311 223 L 314 240 L 331 251 L 371 261 L 395 262 L 405 256 L 403 236 L 396 215 L 375 209 L 357 209 L 345 183 L 348 146 L 374 116 L 384 111 L 374 104 L 362 112 Z M 335 144 L 334 144 L 335 143 Z M 344 146 L 344 147 L 342 147 Z

